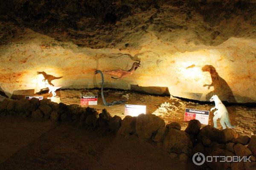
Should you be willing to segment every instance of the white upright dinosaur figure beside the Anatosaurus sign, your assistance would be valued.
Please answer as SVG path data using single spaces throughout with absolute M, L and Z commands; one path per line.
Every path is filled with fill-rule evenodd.
M 235 128 L 236 126 L 232 126 L 230 124 L 230 120 L 228 117 L 228 112 L 227 112 L 227 108 L 225 107 L 225 105 L 223 105 L 223 103 L 221 102 L 221 100 L 218 98 L 217 95 L 213 95 L 212 98 L 210 99 L 211 102 L 215 102 L 215 107 L 211 108 L 210 111 L 217 109 L 217 111 L 215 111 L 213 113 L 213 125 L 215 128 L 217 128 L 217 119 L 221 119 L 221 126 L 223 127 L 223 129 L 226 129 L 227 127 L 229 128 Z M 227 125 L 227 126 L 226 126 Z

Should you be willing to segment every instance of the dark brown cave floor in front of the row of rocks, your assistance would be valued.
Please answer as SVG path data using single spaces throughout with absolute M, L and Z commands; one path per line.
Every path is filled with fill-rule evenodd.
M 153 142 L 70 123 L 0 117 L 0 170 L 193 170 Z

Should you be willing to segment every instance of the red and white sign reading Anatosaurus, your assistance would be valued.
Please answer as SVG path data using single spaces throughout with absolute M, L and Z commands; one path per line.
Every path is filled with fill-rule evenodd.
M 209 121 L 209 111 L 201 111 L 195 109 L 186 109 L 184 121 L 189 121 L 192 119 L 197 119 L 201 124 L 208 125 Z

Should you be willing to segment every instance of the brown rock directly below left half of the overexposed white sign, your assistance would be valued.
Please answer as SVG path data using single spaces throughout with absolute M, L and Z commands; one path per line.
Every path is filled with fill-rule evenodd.
M 119 135 L 132 135 L 136 132 L 136 118 L 132 116 L 125 116 L 121 122 L 121 127 L 117 131 Z

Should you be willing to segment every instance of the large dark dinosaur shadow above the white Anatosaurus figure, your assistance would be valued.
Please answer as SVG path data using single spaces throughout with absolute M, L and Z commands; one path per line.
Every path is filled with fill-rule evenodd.
M 209 100 L 214 94 L 216 94 L 221 101 L 228 101 L 228 102 L 236 102 L 236 99 L 233 95 L 233 92 L 227 82 L 221 78 L 216 69 L 212 65 L 205 65 L 202 68 L 202 71 L 208 71 L 211 74 L 212 84 L 207 85 L 205 84 L 204 87 L 208 87 L 208 89 L 212 86 L 214 88 L 213 91 L 209 92 L 206 95 L 206 99 Z

